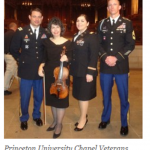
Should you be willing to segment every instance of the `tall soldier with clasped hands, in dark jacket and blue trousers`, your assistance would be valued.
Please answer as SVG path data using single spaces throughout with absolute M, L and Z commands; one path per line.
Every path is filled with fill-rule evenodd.
M 100 85 L 103 93 L 103 113 L 100 129 L 110 123 L 111 94 L 114 80 L 121 101 L 121 135 L 128 134 L 128 55 L 134 50 L 135 35 L 132 22 L 119 14 L 119 0 L 108 0 L 110 17 L 103 19 L 98 26 L 100 40 Z

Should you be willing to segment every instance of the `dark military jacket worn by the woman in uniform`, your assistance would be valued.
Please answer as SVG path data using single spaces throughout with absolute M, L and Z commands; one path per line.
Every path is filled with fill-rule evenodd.
M 76 37 L 77 34 L 74 35 Z M 80 34 L 72 41 L 73 56 L 70 66 L 70 74 L 77 77 L 85 77 L 86 74 L 97 76 L 98 61 L 98 37 L 88 30 Z

